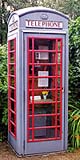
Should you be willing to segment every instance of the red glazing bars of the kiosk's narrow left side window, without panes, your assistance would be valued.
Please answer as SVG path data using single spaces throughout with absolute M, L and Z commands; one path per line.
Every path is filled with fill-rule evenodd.
M 14 48 L 11 50 L 10 43 L 13 41 Z M 14 63 L 10 62 L 10 54 L 14 54 Z M 14 75 L 10 73 L 10 67 L 14 65 Z M 11 86 L 11 77 L 14 78 L 14 87 Z M 11 90 L 14 90 L 14 98 L 11 98 Z M 14 110 L 11 108 L 11 102 L 14 103 Z M 11 113 L 14 115 L 12 120 Z M 11 129 L 13 126 L 13 131 Z M 16 139 L 16 38 L 8 41 L 8 131 Z

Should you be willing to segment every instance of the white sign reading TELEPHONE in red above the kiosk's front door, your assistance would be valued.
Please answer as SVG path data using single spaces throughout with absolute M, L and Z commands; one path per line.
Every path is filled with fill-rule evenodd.
M 38 21 L 38 20 L 26 20 L 26 27 L 38 27 L 38 28 L 63 28 L 62 22 L 54 21 Z

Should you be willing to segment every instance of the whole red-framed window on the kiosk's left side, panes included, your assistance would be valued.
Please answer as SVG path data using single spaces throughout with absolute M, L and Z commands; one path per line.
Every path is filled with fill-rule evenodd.
M 16 138 L 16 39 L 8 41 L 8 130 Z

